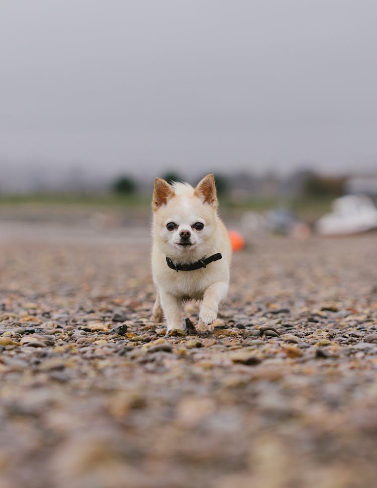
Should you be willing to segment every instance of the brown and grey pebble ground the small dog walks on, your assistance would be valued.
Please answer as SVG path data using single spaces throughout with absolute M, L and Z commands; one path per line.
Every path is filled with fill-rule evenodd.
M 252 238 L 208 336 L 145 235 L 4 239 L 0 486 L 375 488 L 376 234 Z

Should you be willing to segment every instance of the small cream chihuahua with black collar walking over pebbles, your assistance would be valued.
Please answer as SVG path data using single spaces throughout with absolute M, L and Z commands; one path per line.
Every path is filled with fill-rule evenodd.
M 156 178 L 153 190 L 152 274 L 156 301 L 151 319 L 167 321 L 167 332 L 183 329 L 182 303 L 201 300 L 201 332 L 213 330 L 226 297 L 232 248 L 217 214 L 213 174 L 193 188 Z

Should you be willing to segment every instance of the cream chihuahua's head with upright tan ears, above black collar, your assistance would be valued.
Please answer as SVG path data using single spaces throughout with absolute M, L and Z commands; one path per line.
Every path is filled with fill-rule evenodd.
M 216 240 L 217 196 L 212 174 L 194 189 L 156 178 L 153 190 L 154 239 L 171 258 L 204 257 Z M 199 257 L 197 257 L 199 256 Z

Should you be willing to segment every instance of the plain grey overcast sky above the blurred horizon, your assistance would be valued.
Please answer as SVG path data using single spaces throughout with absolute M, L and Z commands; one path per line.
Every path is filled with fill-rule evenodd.
M 375 0 L 1 0 L 0 161 L 377 168 L 376 18 Z

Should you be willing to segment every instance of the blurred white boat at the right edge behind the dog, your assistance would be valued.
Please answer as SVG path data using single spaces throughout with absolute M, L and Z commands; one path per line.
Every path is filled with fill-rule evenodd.
M 321 217 L 317 232 L 324 236 L 347 235 L 377 228 L 377 208 L 365 195 L 344 195 L 336 198 L 332 212 Z

